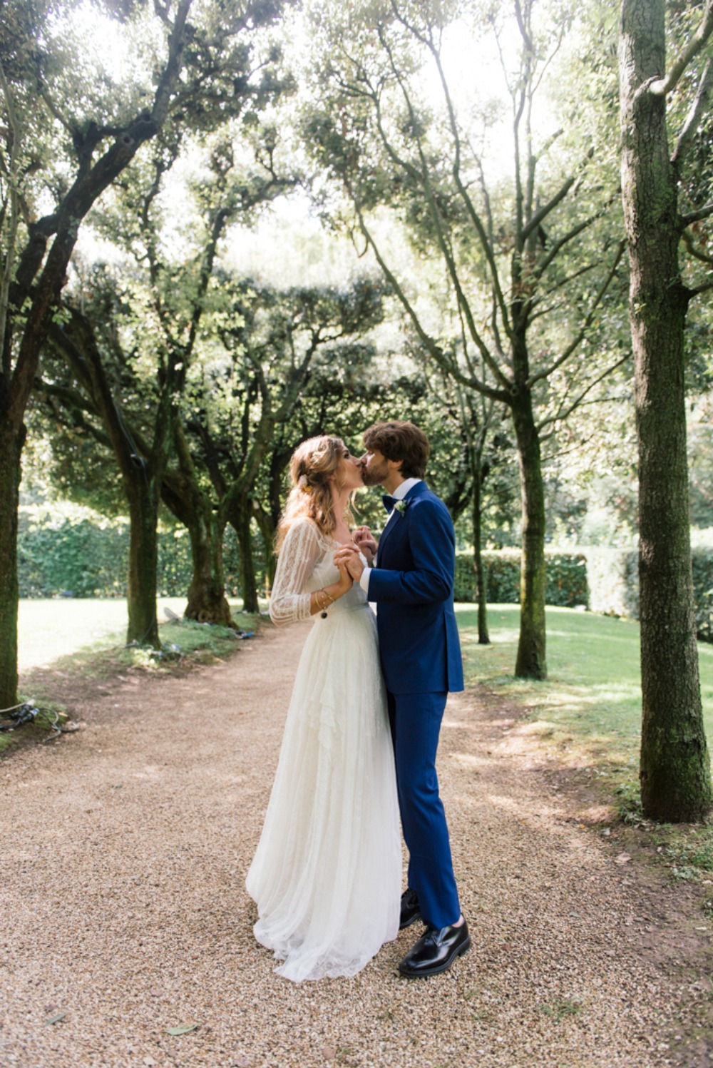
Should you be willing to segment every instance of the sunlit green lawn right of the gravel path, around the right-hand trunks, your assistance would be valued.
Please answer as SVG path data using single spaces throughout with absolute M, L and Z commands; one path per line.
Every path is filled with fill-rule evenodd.
M 638 624 L 575 609 L 549 608 L 548 671 L 544 682 L 512 675 L 520 610 L 516 604 L 488 608 L 491 645 L 478 645 L 477 612 L 457 604 L 469 682 L 517 701 L 526 709 L 530 729 L 556 751 L 566 767 L 586 769 L 617 799 L 625 822 L 651 831 L 654 854 L 676 880 L 710 881 L 713 871 L 713 822 L 699 826 L 641 823 L 638 749 L 641 728 Z M 713 752 L 713 645 L 698 643 L 703 720 Z M 713 897 L 703 902 L 713 918 Z

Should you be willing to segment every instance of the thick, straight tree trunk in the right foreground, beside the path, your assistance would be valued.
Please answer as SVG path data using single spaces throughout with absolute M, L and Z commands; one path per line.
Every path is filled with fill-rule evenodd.
M 639 462 L 641 801 L 670 822 L 711 805 L 691 574 L 684 395 L 688 292 L 678 263 L 677 178 L 665 96 L 639 92 L 666 67 L 664 0 L 624 0 L 621 175 Z

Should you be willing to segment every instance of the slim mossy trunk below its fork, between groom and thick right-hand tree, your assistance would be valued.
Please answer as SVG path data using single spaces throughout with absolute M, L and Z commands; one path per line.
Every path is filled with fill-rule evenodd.
M 514 673 L 518 678 L 548 677 L 544 629 L 544 487 L 540 439 L 529 391 L 512 399 L 512 421 L 520 461 L 522 494 L 522 559 L 520 565 L 520 641 Z

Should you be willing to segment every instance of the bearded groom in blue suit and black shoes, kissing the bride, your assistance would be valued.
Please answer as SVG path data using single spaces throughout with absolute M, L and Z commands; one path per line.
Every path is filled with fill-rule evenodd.
M 366 486 L 382 485 L 389 519 L 376 566 L 364 567 L 354 549 L 340 557 L 368 599 L 377 603 L 381 666 L 403 837 L 409 849 L 401 928 L 426 926 L 399 964 L 409 977 L 445 972 L 470 947 L 458 904 L 448 828 L 439 797 L 435 751 L 448 691 L 463 689 L 453 607 L 455 535 L 443 501 L 423 481 L 429 444 L 413 423 L 376 423 L 364 434 L 360 460 Z M 376 551 L 368 529 L 358 548 Z

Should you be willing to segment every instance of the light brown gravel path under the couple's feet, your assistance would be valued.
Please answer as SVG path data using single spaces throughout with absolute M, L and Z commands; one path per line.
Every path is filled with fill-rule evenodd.
M 698 1064 L 676 1036 L 710 986 L 651 952 L 661 897 L 571 819 L 526 728 L 477 693 L 449 702 L 440 753 L 472 952 L 402 979 L 412 927 L 352 979 L 273 974 L 243 879 L 305 634 L 124 676 L 75 703 L 83 729 L 0 764 L 2 1068 Z

